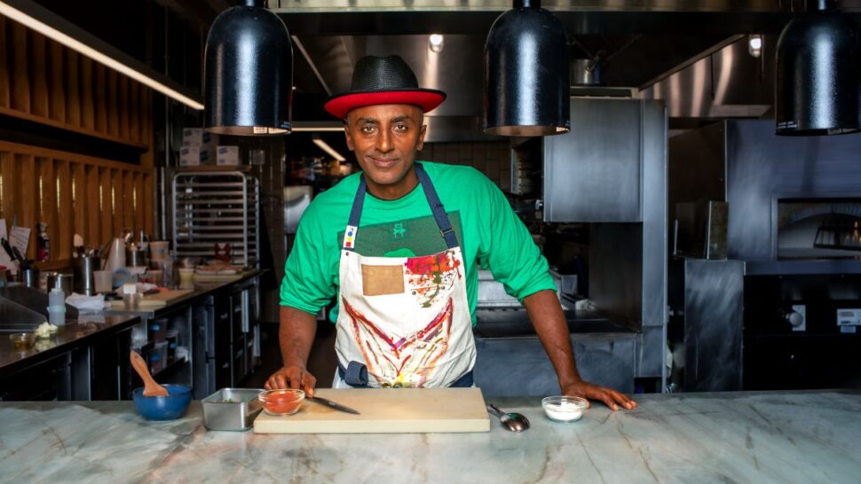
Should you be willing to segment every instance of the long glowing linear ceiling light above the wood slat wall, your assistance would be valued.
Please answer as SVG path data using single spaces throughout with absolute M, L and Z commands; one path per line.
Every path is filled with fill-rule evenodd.
M 12 6 L 12 4 L 15 4 L 15 6 Z M 18 2 L 0 2 L 0 15 L 35 30 L 39 34 L 50 38 L 52 41 L 61 43 L 69 49 L 99 62 L 99 64 L 110 67 L 116 72 L 130 77 L 152 90 L 161 92 L 168 98 L 175 99 L 192 109 L 203 109 L 203 105 L 200 101 L 180 92 L 181 88 L 171 87 L 168 84 L 170 80 L 165 79 L 163 81 L 159 81 L 156 80 L 154 74 L 145 74 L 144 71 L 148 67 L 132 66 L 135 62 L 130 61 L 130 59 L 126 59 L 124 61 L 117 59 L 127 56 L 123 56 L 116 52 L 109 54 L 108 52 L 111 51 L 111 49 L 105 48 L 107 44 L 100 43 L 98 41 L 82 42 L 81 40 L 78 40 L 78 38 L 75 38 L 82 38 L 91 35 L 69 35 L 69 32 L 76 30 L 76 28 L 71 24 L 68 24 L 65 20 L 55 18 L 51 12 L 45 10 L 40 5 L 26 4 L 19 6 L 18 4 Z M 25 6 L 26 8 L 24 8 Z M 44 21 L 49 19 L 50 24 L 52 25 L 49 25 L 48 22 Z M 76 34 L 82 34 L 82 32 L 77 32 Z

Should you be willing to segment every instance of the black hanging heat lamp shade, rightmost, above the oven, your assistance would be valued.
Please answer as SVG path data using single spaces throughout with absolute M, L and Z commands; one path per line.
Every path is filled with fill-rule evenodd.
M 811 2 L 778 39 L 776 133 L 818 136 L 861 129 L 861 34 L 832 0 Z

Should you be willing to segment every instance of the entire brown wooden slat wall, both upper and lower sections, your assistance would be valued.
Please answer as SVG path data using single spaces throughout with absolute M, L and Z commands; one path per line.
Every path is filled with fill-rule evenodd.
M 0 16 L 0 114 L 140 148 L 138 164 L 0 141 L 0 217 L 48 223 L 51 261 L 67 266 L 72 236 L 100 246 L 123 228 L 154 229 L 152 91 Z M 95 140 L 94 140 L 95 142 Z

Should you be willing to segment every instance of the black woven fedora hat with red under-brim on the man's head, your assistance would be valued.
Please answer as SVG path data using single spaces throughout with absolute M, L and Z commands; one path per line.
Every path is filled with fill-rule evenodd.
M 419 88 L 413 70 L 399 56 L 365 56 L 352 72 L 350 90 L 329 98 L 323 109 L 341 119 L 363 105 L 417 105 L 427 113 L 444 100 L 441 90 Z

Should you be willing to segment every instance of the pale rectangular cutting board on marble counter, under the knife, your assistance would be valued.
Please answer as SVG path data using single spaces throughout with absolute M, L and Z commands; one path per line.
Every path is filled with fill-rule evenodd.
M 361 415 L 304 401 L 293 415 L 260 412 L 256 433 L 455 433 L 488 432 L 490 418 L 478 388 L 320 388 L 317 396 Z

